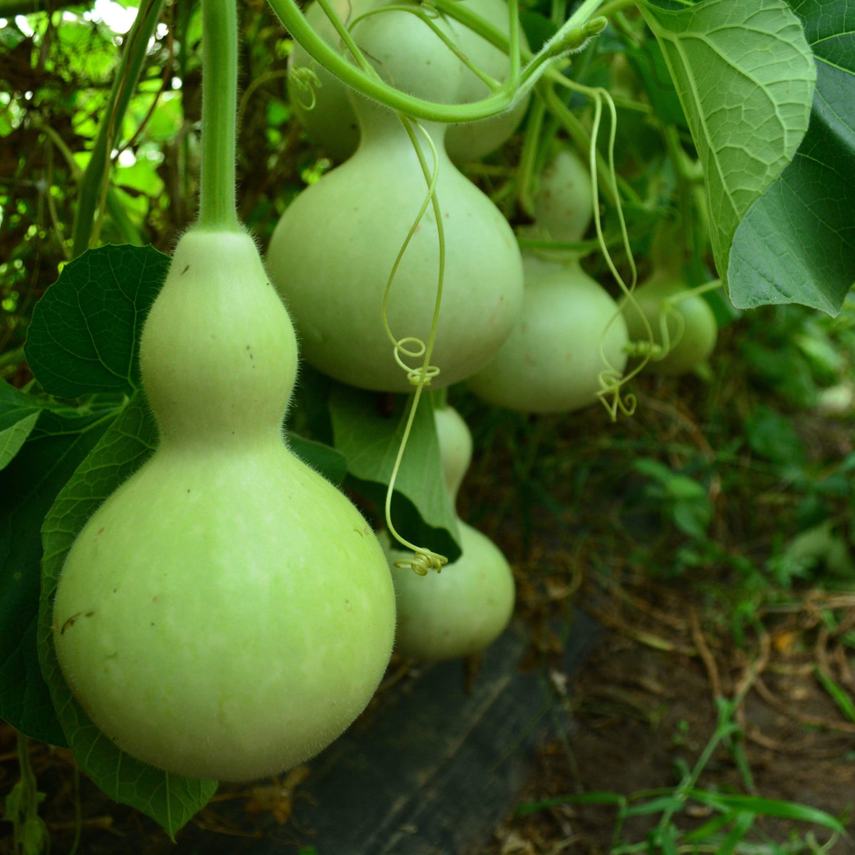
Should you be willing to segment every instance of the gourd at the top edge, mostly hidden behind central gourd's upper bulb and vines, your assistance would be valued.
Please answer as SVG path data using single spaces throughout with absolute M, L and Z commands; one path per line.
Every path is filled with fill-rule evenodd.
M 508 5 L 505 0 L 459 0 L 475 14 L 481 15 L 500 32 L 508 32 Z M 347 24 L 372 9 L 387 6 L 392 0 L 333 0 L 332 6 L 339 18 Z M 310 3 L 304 12 L 306 21 L 328 44 L 339 44 L 339 35 L 329 18 L 317 3 Z M 504 81 L 510 70 L 508 56 L 475 32 L 453 21 L 451 32 L 457 45 L 471 62 L 494 80 Z M 528 47 L 525 36 L 520 38 L 523 48 Z M 445 50 L 445 48 L 439 48 Z M 337 162 L 345 161 L 359 143 L 359 125 L 347 95 L 347 87 L 333 77 L 326 68 L 315 62 L 306 50 L 295 44 L 289 60 L 288 93 L 294 115 L 315 142 Z M 312 94 L 297 79 L 305 71 L 314 71 L 317 83 Z M 469 70 L 463 71 L 463 83 L 458 103 L 471 103 L 489 94 L 486 84 Z M 469 162 L 498 149 L 516 130 L 528 108 L 528 96 L 520 99 L 511 109 L 489 119 L 452 125 L 445 137 L 449 156 L 455 162 Z

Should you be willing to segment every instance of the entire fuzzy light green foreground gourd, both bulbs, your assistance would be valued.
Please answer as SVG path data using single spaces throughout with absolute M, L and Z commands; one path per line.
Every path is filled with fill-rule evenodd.
M 68 553 L 62 673 L 135 758 L 196 778 L 273 775 L 374 693 L 395 620 L 385 557 L 284 444 L 296 342 L 248 235 L 180 240 L 140 363 L 161 443 Z

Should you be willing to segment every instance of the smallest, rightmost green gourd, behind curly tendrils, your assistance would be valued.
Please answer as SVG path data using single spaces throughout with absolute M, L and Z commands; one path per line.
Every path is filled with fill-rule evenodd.
M 633 293 L 637 305 L 627 301 L 623 306 L 630 341 L 648 340 L 644 321 L 641 320 L 641 315 L 645 315 L 652 327 L 653 340 L 657 345 L 662 345 L 663 300 L 686 290 L 685 281 L 667 271 L 652 274 L 649 280 L 638 286 Z M 682 315 L 682 335 L 677 339 L 681 325 L 675 317 L 669 316 L 666 322 L 671 350 L 663 359 L 652 359 L 645 366 L 646 371 L 668 377 L 687 374 L 705 363 L 715 350 L 718 338 L 716 315 L 699 294 L 690 294 L 681 299 L 673 306 L 673 310 Z

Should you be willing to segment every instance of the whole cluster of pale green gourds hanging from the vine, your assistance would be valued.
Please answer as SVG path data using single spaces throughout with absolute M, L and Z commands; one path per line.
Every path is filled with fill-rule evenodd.
M 359 17 L 382 2 L 339 12 L 358 19 L 351 35 L 386 80 L 437 102 L 482 97 L 485 84 L 420 17 Z M 506 30 L 504 0 L 463 2 Z M 324 15 L 307 18 L 334 41 Z M 434 24 L 493 78 L 507 74 L 486 41 Z M 297 48 L 293 63 L 310 60 Z M 180 239 L 140 345 L 160 444 L 80 532 L 56 592 L 54 643 L 75 697 L 122 750 L 181 775 L 238 781 L 298 764 L 367 704 L 394 643 L 407 657 L 462 657 L 510 620 L 513 577 L 483 535 L 459 522 L 457 562 L 427 576 L 398 569 L 391 539 L 381 545 L 283 439 L 298 341 L 315 368 L 354 386 L 408 392 L 418 379 L 399 360 L 404 342 L 427 341 L 433 327 L 430 205 L 399 259 L 388 330 L 381 307 L 426 197 L 424 163 L 438 168 L 445 233 L 434 388 L 465 381 L 514 410 L 574 410 L 596 399 L 600 345 L 619 373 L 634 336 L 578 261 L 522 256 L 446 153 L 463 162 L 495 149 L 525 103 L 447 133 L 423 123 L 414 144 L 392 110 L 317 74 L 314 108 L 295 97 L 295 109 L 344 162 L 286 209 L 266 269 L 236 220 L 203 218 Z M 541 178 L 536 227 L 578 241 L 591 207 L 586 170 L 562 151 Z M 671 288 L 652 284 L 636 299 L 658 305 Z M 471 438 L 451 407 L 435 417 L 453 503 Z

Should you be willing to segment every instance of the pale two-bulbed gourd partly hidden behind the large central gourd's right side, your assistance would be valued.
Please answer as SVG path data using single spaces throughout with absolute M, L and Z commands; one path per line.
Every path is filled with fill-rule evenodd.
M 591 218 L 591 180 L 579 159 L 560 150 L 541 175 L 528 233 L 579 241 Z M 528 413 L 560 413 L 593 404 L 600 374 L 623 370 L 627 327 L 608 292 L 578 258 L 523 252 L 525 291 L 513 332 L 467 386 L 488 404 Z M 602 345 L 602 354 L 600 346 Z

